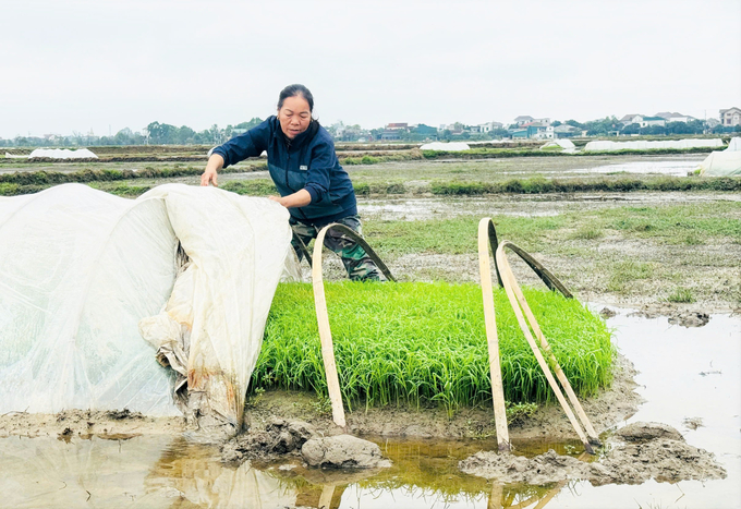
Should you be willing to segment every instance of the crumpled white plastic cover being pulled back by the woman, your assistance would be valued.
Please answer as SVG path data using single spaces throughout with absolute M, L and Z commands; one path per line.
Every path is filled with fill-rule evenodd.
M 0 198 L 0 413 L 181 415 L 178 372 L 156 355 L 174 338 L 189 392 L 239 425 L 290 240 L 282 206 L 215 187 Z

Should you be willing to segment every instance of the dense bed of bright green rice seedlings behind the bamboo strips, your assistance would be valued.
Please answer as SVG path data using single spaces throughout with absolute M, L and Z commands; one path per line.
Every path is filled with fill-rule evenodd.
M 615 349 L 605 322 L 579 301 L 523 289 L 563 372 L 580 396 L 611 383 Z M 364 404 L 490 404 L 491 385 L 477 284 L 326 283 L 343 400 Z M 505 397 L 554 399 L 507 295 L 495 290 Z M 282 283 L 268 316 L 252 389 L 327 393 L 312 286 Z

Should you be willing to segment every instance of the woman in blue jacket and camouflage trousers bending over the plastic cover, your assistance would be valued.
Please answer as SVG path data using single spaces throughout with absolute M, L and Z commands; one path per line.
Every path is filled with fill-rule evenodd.
M 287 86 L 278 98 L 278 114 L 216 147 L 201 177 L 201 185 L 217 185 L 219 169 L 266 150 L 270 178 L 280 193 L 280 197 L 269 197 L 291 214 L 292 244 L 299 259 L 302 252 L 295 237 L 307 245 L 330 222 L 361 233 L 350 177 L 337 159 L 329 133 L 312 118 L 313 110 L 314 97 L 305 86 Z M 325 245 L 340 255 L 350 279 L 381 280 L 376 264 L 352 239 L 329 231 Z

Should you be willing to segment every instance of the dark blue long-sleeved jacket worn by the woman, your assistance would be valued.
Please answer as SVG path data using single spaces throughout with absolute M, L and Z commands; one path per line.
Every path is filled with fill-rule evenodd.
M 312 202 L 289 208 L 291 216 L 308 225 L 326 225 L 357 214 L 355 191 L 340 166 L 335 143 L 326 129 L 312 121 L 308 129 L 291 140 L 290 146 L 275 116 L 244 134 L 214 149 L 223 167 L 268 154 L 270 178 L 281 196 L 305 189 Z

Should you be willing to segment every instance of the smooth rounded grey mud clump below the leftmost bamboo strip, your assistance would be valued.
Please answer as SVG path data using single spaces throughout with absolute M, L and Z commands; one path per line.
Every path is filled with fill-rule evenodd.
M 352 435 L 312 438 L 301 448 L 301 456 L 312 466 L 331 469 L 374 469 L 390 465 L 376 444 Z

